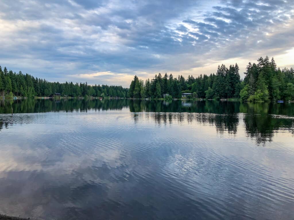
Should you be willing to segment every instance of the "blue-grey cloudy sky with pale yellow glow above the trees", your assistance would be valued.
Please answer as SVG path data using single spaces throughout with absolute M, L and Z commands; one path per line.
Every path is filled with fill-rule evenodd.
M 294 0 L 1 0 L 0 65 L 49 81 L 129 87 L 274 57 L 294 67 Z

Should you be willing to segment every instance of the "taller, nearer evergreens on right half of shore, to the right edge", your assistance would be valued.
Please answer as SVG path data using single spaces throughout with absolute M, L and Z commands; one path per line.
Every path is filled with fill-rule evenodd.
M 197 78 L 182 75 L 162 77 L 159 73 L 145 82 L 134 77 L 129 95 L 131 98 L 181 98 L 182 93 L 192 93 L 191 98 L 227 99 L 240 98 L 243 101 L 293 100 L 294 76 L 293 68 L 277 69 L 275 60 L 260 57 L 258 64 L 249 63 L 244 80 L 240 78 L 239 67 L 219 65 L 216 74 L 200 75 Z M 168 94 L 166 96 L 165 94 Z M 190 97 L 189 97 L 190 98 Z

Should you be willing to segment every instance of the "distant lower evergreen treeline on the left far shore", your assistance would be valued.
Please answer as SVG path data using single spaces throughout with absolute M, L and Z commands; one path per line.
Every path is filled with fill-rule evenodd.
M 61 96 L 69 97 L 119 97 L 128 98 L 128 88 L 121 86 L 108 85 L 88 85 L 86 83 L 73 82 L 48 82 L 45 79 L 34 78 L 29 74 L 22 74 L 12 70 L 7 70 L 6 67 L 2 70 L 0 66 L 0 96 L 20 96 L 20 97 L 35 97 L 35 96 L 54 96 L 56 93 Z

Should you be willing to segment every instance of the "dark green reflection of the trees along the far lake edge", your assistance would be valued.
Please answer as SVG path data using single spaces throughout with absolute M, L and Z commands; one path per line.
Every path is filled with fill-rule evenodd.
M 240 103 L 194 100 L 130 100 L 130 99 L 1 99 L 0 114 L 40 113 L 40 112 L 87 112 L 129 109 L 138 122 L 138 113 L 153 113 L 158 125 L 171 123 L 209 124 L 216 131 L 236 134 L 239 123 L 244 123 L 247 136 L 258 143 L 271 141 L 275 131 L 280 129 L 293 134 L 293 103 Z M 193 114 L 192 114 L 193 113 Z M 195 114 L 197 113 L 197 114 Z M 0 130 L 9 125 L 0 119 Z

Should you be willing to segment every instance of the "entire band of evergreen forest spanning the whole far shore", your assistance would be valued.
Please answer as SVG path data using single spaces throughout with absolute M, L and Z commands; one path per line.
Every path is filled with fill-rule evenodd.
M 197 74 L 197 73 L 196 73 Z M 206 99 L 239 98 L 242 101 L 294 100 L 294 71 L 277 68 L 274 58 L 260 57 L 257 63 L 249 63 L 240 78 L 239 66 L 219 65 L 216 74 L 202 75 L 185 79 L 182 75 L 159 73 L 145 82 L 137 76 L 130 88 L 108 85 L 88 85 L 73 82 L 48 82 L 29 74 L 22 74 L 0 66 L 0 96 L 5 97 L 49 97 L 54 94 L 68 97 L 118 97 L 118 98 L 181 98 L 182 94 Z

